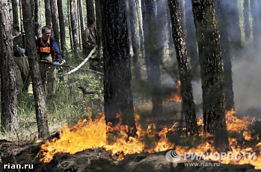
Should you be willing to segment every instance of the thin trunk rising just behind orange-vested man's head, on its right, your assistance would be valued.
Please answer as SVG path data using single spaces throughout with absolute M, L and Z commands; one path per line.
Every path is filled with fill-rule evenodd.
M 52 14 L 52 31 L 54 32 L 54 40 L 60 44 L 60 34 L 59 34 L 59 20 L 58 20 L 58 12 L 57 12 L 57 0 L 49 0 Z

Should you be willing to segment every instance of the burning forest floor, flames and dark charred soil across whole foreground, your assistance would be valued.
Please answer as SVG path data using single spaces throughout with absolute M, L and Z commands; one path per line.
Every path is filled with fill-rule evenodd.
M 119 116 L 120 117 L 120 116 Z M 161 121 L 151 123 L 135 114 L 137 138 L 128 138 L 128 126 L 105 124 L 104 114 L 80 119 L 76 125 L 64 125 L 47 140 L 38 143 L 16 143 L 0 140 L 1 169 L 3 164 L 34 164 L 30 171 L 254 171 L 261 169 L 261 122 L 249 117 L 236 117 L 231 110 L 226 114 L 229 131 L 229 155 L 250 153 L 251 158 L 206 157 L 215 153 L 213 136 L 203 134 L 187 137 L 179 123 Z M 142 121 L 142 123 L 141 123 Z M 198 121 L 202 127 L 202 121 Z M 176 150 L 179 162 L 166 160 L 166 153 Z M 198 153 L 196 160 L 184 158 L 185 153 Z M 255 160 L 253 160 L 255 153 Z M 204 157 L 205 156 L 205 157 Z M 195 157 L 194 157 L 195 159 Z M 204 159 L 204 160 L 203 160 Z M 243 160 L 245 159 L 245 160 Z M 220 162 L 218 167 L 185 167 L 188 162 Z M 20 171 L 27 171 L 21 169 Z

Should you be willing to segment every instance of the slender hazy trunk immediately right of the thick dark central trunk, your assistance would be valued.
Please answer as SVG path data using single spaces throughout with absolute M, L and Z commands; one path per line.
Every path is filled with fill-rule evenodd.
M 134 0 L 128 0 L 128 16 L 131 23 L 131 43 L 133 47 L 133 66 L 135 79 L 141 79 L 139 66 L 139 21 L 137 21 L 137 6 Z

